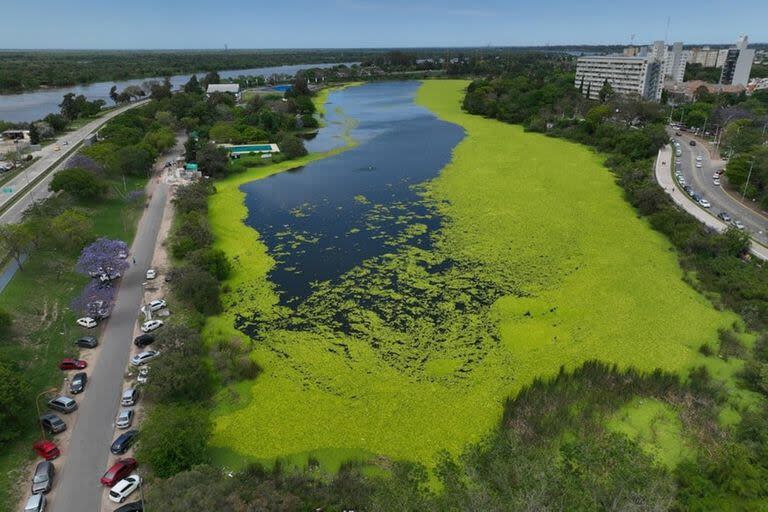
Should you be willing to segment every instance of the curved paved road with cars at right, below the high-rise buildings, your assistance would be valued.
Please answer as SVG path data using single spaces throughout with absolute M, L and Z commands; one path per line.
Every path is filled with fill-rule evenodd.
M 741 204 L 733 197 L 733 192 L 717 186 L 712 181 L 712 175 L 718 169 L 725 167 L 722 160 L 713 160 L 707 146 L 701 139 L 695 139 L 696 145 L 690 146 L 693 139 L 690 135 L 675 136 L 680 141 L 682 156 L 682 172 L 688 185 L 712 203 L 710 213 L 717 215 L 720 212 L 728 212 L 734 219 L 740 220 L 752 238 L 763 245 L 768 246 L 768 217 L 763 216 L 752 208 Z M 696 157 L 702 157 L 702 167 L 696 168 Z M 725 182 L 725 180 L 723 180 Z

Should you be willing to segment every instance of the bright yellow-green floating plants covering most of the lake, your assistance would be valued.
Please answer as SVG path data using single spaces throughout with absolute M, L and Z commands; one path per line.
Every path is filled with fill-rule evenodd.
M 395 247 L 322 289 L 311 311 L 357 308 L 355 335 L 275 330 L 254 344 L 263 374 L 222 390 L 214 412 L 221 464 L 314 457 L 333 470 L 342 458 L 377 454 L 431 466 L 441 450 L 458 454 L 482 439 L 505 398 L 536 377 L 590 359 L 682 375 L 705 360 L 698 348 L 715 346 L 718 328 L 738 321 L 683 281 L 671 244 L 638 219 L 602 156 L 465 114 L 467 83 L 427 81 L 417 97 L 467 133 L 427 186 L 425 199 L 444 220 L 433 249 Z M 210 220 L 235 271 L 225 313 L 208 320 L 210 342 L 244 338 L 233 327 L 240 314 L 291 314 L 277 306 L 267 278 L 274 262 L 243 224 L 237 187 L 311 158 L 217 183 Z M 445 261 L 452 270 L 424 269 Z M 437 301 L 422 303 L 402 286 Z M 474 299 L 488 290 L 498 292 L 493 300 Z M 350 306 L 348 291 L 403 305 L 412 326 L 396 331 Z M 424 321 L 435 310 L 446 319 L 439 330 Z M 734 371 L 734 363 L 707 364 L 721 375 Z

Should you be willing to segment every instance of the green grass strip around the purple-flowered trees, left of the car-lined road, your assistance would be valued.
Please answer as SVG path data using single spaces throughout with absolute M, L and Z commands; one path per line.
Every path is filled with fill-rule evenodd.
M 142 189 L 145 179 L 131 179 L 126 189 Z M 119 183 L 123 190 L 123 183 Z M 96 205 L 80 205 L 92 213 L 97 236 L 133 239 L 143 203 L 129 205 L 120 197 L 103 200 Z M 56 362 L 76 355 L 75 337 L 83 334 L 75 325 L 76 315 L 69 304 L 87 283 L 88 278 L 74 272 L 76 255 L 33 253 L 24 270 L 17 272 L 0 293 L 0 308 L 14 316 L 12 339 L 0 341 L 0 352 L 9 359 L 21 361 L 32 392 L 61 386 L 61 372 Z M 41 404 L 44 400 L 41 399 Z M 34 407 L 29 413 L 27 434 L 18 442 L 4 446 L 0 452 L 0 511 L 12 510 L 19 492 L 17 482 L 26 477 L 20 472 L 32 459 L 32 442 L 39 436 Z M 23 483 L 26 485 L 26 482 Z

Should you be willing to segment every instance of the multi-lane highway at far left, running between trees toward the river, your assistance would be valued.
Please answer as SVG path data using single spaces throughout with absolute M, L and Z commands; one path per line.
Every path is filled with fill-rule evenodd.
M 49 144 L 41 149 L 38 154 L 40 158 L 30 165 L 27 169 L 14 176 L 13 179 L 3 184 L 3 189 L 11 189 L 12 193 L 0 192 L 0 210 L 9 204 L 11 200 L 16 202 L 10 206 L 7 210 L 3 211 L 0 215 L 0 223 L 15 223 L 21 220 L 21 214 L 26 208 L 35 202 L 36 200 L 43 199 L 50 195 L 48 191 L 48 184 L 53 179 L 54 172 L 48 173 L 41 181 L 32 185 L 32 188 L 26 190 L 35 179 L 45 175 L 53 166 L 57 160 L 62 158 L 65 154 L 70 152 L 71 155 L 75 153 L 74 149 L 80 144 L 88 135 L 98 130 L 107 121 L 113 117 L 122 114 L 126 110 L 135 108 L 143 102 L 131 103 L 123 107 L 110 110 L 103 116 L 99 117 L 86 124 L 82 128 L 71 131 L 59 137 L 55 143 Z M 66 143 L 66 144 L 65 144 Z M 60 147 L 59 151 L 56 151 L 56 147 Z M 66 159 L 56 166 L 54 171 L 61 169 L 66 162 Z

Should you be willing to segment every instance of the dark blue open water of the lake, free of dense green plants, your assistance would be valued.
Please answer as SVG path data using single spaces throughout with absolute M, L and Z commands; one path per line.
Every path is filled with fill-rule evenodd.
M 416 105 L 418 88 L 418 82 L 388 82 L 331 93 L 328 126 L 315 140 L 333 147 L 337 121 L 352 118 L 359 146 L 241 187 L 246 224 L 277 260 L 270 279 L 281 302 L 306 298 L 312 282 L 395 252 L 404 240 L 429 247 L 440 218 L 421 200 L 418 185 L 450 161 L 464 130 Z

